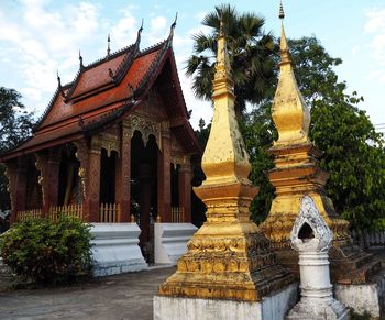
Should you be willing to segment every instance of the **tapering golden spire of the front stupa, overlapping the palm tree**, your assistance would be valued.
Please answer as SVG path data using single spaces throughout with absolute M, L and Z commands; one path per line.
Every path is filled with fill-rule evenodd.
M 219 173 L 221 173 L 222 181 L 245 181 L 250 173 L 250 163 L 234 112 L 234 82 L 222 18 L 218 37 L 212 99 L 215 111 L 211 133 L 202 157 L 202 169 L 207 177 L 204 185 L 210 184 L 211 180 L 218 181 Z

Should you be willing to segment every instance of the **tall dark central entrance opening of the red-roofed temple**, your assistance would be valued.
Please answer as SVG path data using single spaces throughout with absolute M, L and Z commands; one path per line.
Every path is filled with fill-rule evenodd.
M 131 214 L 142 230 L 140 247 L 147 263 L 154 263 L 154 222 L 157 212 L 157 144 L 146 144 L 139 131 L 131 140 Z

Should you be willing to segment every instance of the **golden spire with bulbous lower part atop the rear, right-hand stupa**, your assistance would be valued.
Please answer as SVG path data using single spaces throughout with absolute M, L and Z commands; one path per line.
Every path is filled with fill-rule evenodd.
M 279 81 L 273 102 L 273 120 L 278 131 L 274 145 L 309 143 L 310 113 L 299 91 L 284 27 L 284 7 L 279 4 L 282 20 Z

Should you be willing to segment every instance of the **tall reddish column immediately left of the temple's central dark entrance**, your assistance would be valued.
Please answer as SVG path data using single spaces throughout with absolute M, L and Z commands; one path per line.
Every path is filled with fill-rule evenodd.
M 119 222 L 128 222 L 131 220 L 131 125 L 129 122 L 122 124 L 122 143 L 116 181 L 117 202 L 120 203 Z

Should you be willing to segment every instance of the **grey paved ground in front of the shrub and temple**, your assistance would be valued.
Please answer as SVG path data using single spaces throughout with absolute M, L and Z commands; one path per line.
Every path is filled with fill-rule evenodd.
M 174 267 L 89 280 L 64 288 L 7 290 L 0 319 L 153 319 L 152 298 Z

